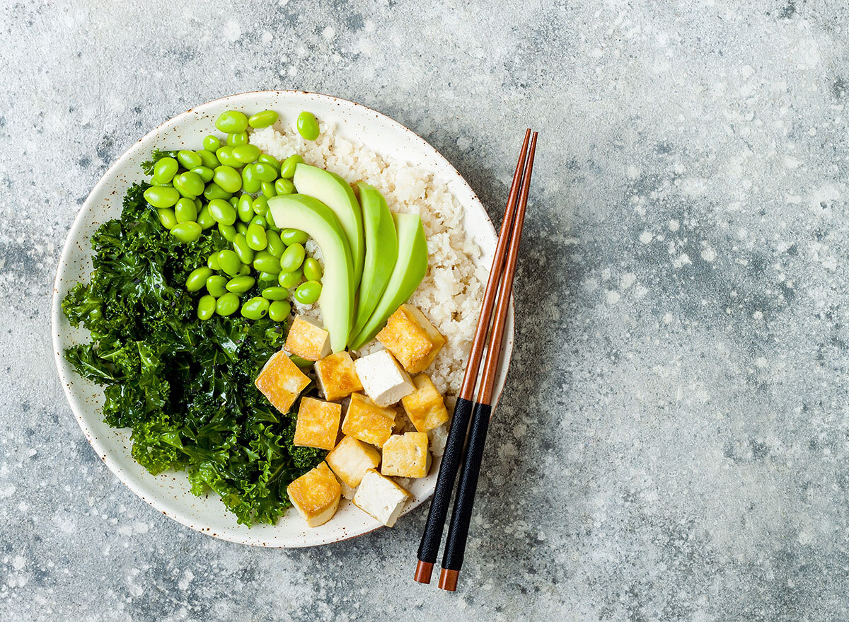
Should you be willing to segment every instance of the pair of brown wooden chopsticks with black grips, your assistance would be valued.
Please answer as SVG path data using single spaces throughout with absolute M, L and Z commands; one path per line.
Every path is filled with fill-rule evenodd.
M 528 149 L 529 140 L 530 150 Z M 457 478 L 457 472 L 462 463 L 457 497 L 454 500 L 454 511 L 448 527 L 446 550 L 442 557 L 442 570 L 439 578 L 439 587 L 442 590 L 455 591 L 457 589 L 458 575 L 463 565 L 472 506 L 475 502 L 475 491 L 481 472 L 486 432 L 492 416 L 492 389 L 495 386 L 498 362 L 501 359 L 501 342 L 504 325 L 507 321 L 510 295 L 513 291 L 513 277 L 519 253 L 522 226 L 525 223 L 528 190 L 531 186 L 531 172 L 536 150 L 537 133 L 534 132 L 531 138 L 531 130 L 528 129 L 520 150 L 519 161 L 516 163 L 513 183 L 510 185 L 507 206 L 504 209 L 504 222 L 501 226 L 501 233 L 498 235 L 498 245 L 495 248 L 492 269 L 484 291 L 481 316 L 478 318 L 477 328 L 475 329 L 475 339 L 469 353 L 469 363 L 466 366 L 463 385 L 460 387 L 457 404 L 454 406 L 453 420 L 442 454 L 439 476 L 436 479 L 436 490 L 430 501 L 430 511 L 428 512 L 427 522 L 424 524 L 424 534 L 422 534 L 421 544 L 419 545 L 419 563 L 416 566 L 415 580 L 419 583 L 430 583 L 430 575 L 433 572 L 433 565 L 436 563 L 436 555 L 439 552 L 442 530 L 445 527 L 448 506 L 451 503 L 454 480 Z M 490 331 L 493 307 L 495 308 L 495 319 L 492 322 L 492 331 Z M 486 360 L 481 375 L 481 386 L 478 390 L 477 399 L 473 402 L 478 370 L 481 366 L 484 348 L 487 345 L 487 337 L 488 348 L 486 348 Z M 470 427 L 469 418 L 471 419 Z M 469 428 L 469 441 L 464 456 L 463 449 L 464 444 L 466 444 L 467 428 Z

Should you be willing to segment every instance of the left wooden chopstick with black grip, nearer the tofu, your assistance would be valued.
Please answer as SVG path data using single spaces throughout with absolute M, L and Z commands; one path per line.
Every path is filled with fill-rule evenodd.
M 430 575 L 433 565 L 436 563 L 436 555 L 439 553 L 439 545 L 442 540 L 442 530 L 445 528 L 445 519 L 448 514 L 448 506 L 451 505 L 451 492 L 454 488 L 454 480 L 463 459 L 463 447 L 466 440 L 466 430 L 469 427 L 469 416 L 472 412 L 472 398 L 475 393 L 478 369 L 481 366 L 484 347 L 486 346 L 486 333 L 489 331 L 492 308 L 498 291 L 498 283 L 507 257 L 510 231 L 513 229 L 514 214 L 518 204 L 522 172 L 525 169 L 525 160 L 528 149 L 528 140 L 531 138 L 531 130 L 525 132 L 525 140 L 519 153 L 519 161 L 513 174 L 513 183 L 510 184 L 510 192 L 507 198 L 507 206 L 504 208 L 504 220 L 501 225 L 501 233 L 498 235 L 498 244 L 495 247 L 495 256 L 492 257 L 492 269 L 489 279 L 486 281 L 486 290 L 481 304 L 481 315 L 478 318 L 475 329 L 475 339 L 469 352 L 469 362 L 463 376 L 463 385 L 457 404 L 454 406 L 453 419 L 448 431 L 445 450 L 439 467 L 439 476 L 436 479 L 436 489 L 430 500 L 430 511 L 427 522 L 424 523 L 424 533 L 419 544 L 419 563 L 416 565 L 415 580 L 419 583 L 430 583 Z

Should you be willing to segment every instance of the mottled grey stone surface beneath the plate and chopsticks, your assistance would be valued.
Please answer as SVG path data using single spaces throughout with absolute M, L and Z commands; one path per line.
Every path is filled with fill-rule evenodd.
M 0 4 L 0 619 L 849 618 L 843 0 Z M 412 581 L 424 508 L 212 540 L 65 403 L 48 309 L 82 201 L 151 127 L 264 88 L 395 117 L 496 220 L 542 133 L 457 594 Z

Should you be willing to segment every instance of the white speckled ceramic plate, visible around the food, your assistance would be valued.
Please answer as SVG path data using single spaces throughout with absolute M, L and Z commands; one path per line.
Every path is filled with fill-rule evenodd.
M 87 341 L 87 331 L 75 331 L 68 324 L 62 314 L 61 301 L 77 282 L 88 280 L 92 270 L 89 239 L 93 231 L 104 221 L 120 215 L 121 199 L 132 182 L 143 178 L 139 165 L 149 157 L 152 150 L 197 149 L 200 139 L 214 131 L 214 121 L 223 110 L 243 110 L 248 115 L 257 110 L 277 110 L 282 120 L 289 125 L 295 122 L 301 110 L 310 110 L 324 127 L 334 124 L 336 132 L 346 139 L 365 144 L 381 155 L 407 161 L 432 172 L 437 183 L 447 185 L 464 206 L 466 232 L 481 247 L 478 261 L 486 266 L 492 263 L 496 235 L 481 201 L 454 167 L 407 127 L 363 105 L 329 95 L 300 91 L 231 95 L 175 116 L 132 145 L 98 181 L 83 204 L 65 242 L 53 289 L 53 349 L 59 378 L 76 421 L 106 466 L 121 482 L 166 516 L 201 533 L 253 546 L 315 546 L 365 534 L 378 529 L 380 523 L 346 500 L 343 500 L 339 512 L 329 523 L 316 529 L 307 528 L 294 510 L 287 512 L 277 524 L 256 525 L 249 529 L 236 523 L 236 518 L 224 508 L 216 495 L 192 495 L 183 473 L 151 475 L 132 459 L 127 430 L 113 429 L 103 422 L 102 387 L 77 376 L 63 357 L 65 348 Z M 501 393 L 513 348 L 512 306 L 503 348 L 496 398 Z M 413 500 L 408 503 L 405 513 L 433 494 L 437 470 L 438 462 L 427 478 L 414 480 L 411 489 Z

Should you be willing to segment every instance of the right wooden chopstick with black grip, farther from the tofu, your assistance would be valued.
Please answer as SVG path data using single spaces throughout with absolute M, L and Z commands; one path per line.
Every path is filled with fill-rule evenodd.
M 483 379 L 472 412 L 469 446 L 466 449 L 463 468 L 460 471 L 457 497 L 454 500 L 454 510 L 451 514 L 451 523 L 448 526 L 445 555 L 442 557 L 442 571 L 439 576 L 439 586 L 442 590 L 455 591 L 457 589 L 460 568 L 463 566 L 472 506 L 475 504 L 475 491 L 477 490 L 478 477 L 481 474 L 486 432 L 489 429 L 489 420 L 492 416 L 492 389 L 495 385 L 495 376 L 498 373 L 498 363 L 501 359 L 501 342 L 504 335 L 504 325 L 507 322 L 510 294 L 513 292 L 513 277 L 516 270 L 516 259 L 519 255 L 522 226 L 525 223 L 528 190 L 531 186 L 531 172 L 533 171 L 533 158 L 536 150 L 537 133 L 534 132 L 531 139 L 531 151 L 528 154 L 527 168 L 522 179 L 519 209 L 510 235 L 507 264 L 504 267 L 503 281 L 498 291 L 498 305 L 495 312 L 495 321 L 492 325 L 489 348 L 486 351 Z

